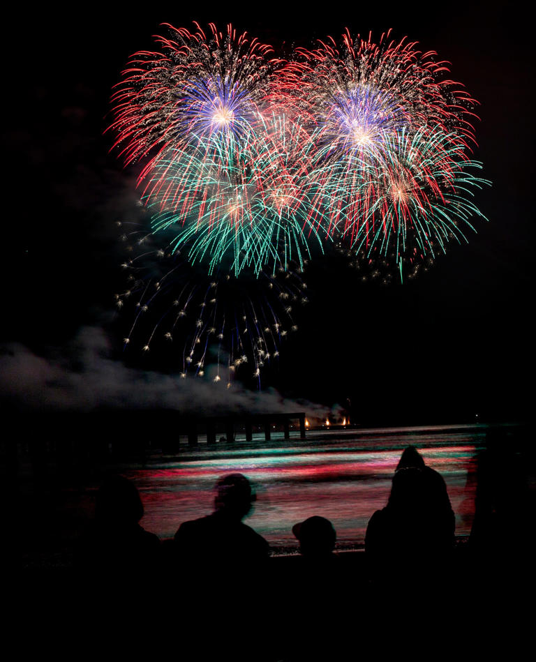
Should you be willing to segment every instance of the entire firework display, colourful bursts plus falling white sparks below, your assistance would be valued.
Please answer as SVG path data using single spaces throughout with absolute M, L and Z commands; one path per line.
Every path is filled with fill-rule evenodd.
M 283 63 L 230 25 L 195 26 L 134 54 L 112 95 L 112 149 L 140 162 L 150 214 L 117 305 L 135 311 L 125 345 L 179 348 L 184 377 L 209 359 L 217 381 L 223 366 L 258 377 L 325 243 L 380 278 L 466 241 L 489 183 L 471 156 L 476 102 L 389 33 L 346 31 Z

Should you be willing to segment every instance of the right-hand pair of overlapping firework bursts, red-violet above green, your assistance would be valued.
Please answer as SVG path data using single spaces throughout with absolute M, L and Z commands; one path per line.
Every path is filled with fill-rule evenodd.
M 489 183 L 467 156 L 476 102 L 434 55 L 389 42 L 389 33 L 376 45 L 347 31 L 340 46 L 329 38 L 299 49 L 278 73 L 279 103 L 315 144 L 320 234 L 368 258 L 395 245 L 400 269 L 408 255 L 433 257 L 434 246 L 445 252 L 447 241 L 465 238 L 458 224 L 472 228 L 470 216 L 482 217 L 472 189 Z

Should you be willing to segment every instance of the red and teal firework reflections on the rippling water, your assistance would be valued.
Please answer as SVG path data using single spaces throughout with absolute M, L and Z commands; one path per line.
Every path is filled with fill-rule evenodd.
M 362 545 L 366 525 L 385 506 L 402 450 L 417 446 L 426 464 L 442 474 L 456 513 L 456 535 L 470 533 L 474 514 L 476 452 L 485 429 L 407 428 L 381 435 L 356 436 L 333 430 L 306 441 L 274 435 L 242 446 L 184 448 L 176 461 L 124 471 L 140 490 L 145 506 L 142 526 L 162 539 L 172 538 L 181 522 L 211 512 L 219 476 L 241 472 L 253 483 L 257 501 L 244 520 L 273 548 L 296 546 L 292 525 L 312 515 L 333 522 L 341 548 Z M 282 435 L 280 435 L 282 437 Z

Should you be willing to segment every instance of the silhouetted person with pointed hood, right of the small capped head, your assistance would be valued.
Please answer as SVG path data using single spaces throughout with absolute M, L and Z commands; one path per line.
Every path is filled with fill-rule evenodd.
M 396 469 L 387 506 L 368 522 L 365 550 L 377 580 L 395 575 L 402 583 L 426 581 L 427 568 L 441 573 L 441 562 L 451 560 L 454 513 L 445 481 L 411 446 Z

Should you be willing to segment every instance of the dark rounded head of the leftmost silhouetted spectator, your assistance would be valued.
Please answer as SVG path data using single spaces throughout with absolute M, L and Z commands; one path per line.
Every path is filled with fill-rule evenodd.
M 143 504 L 134 483 L 124 476 L 108 476 L 97 492 L 95 516 L 103 524 L 137 524 L 143 517 Z

